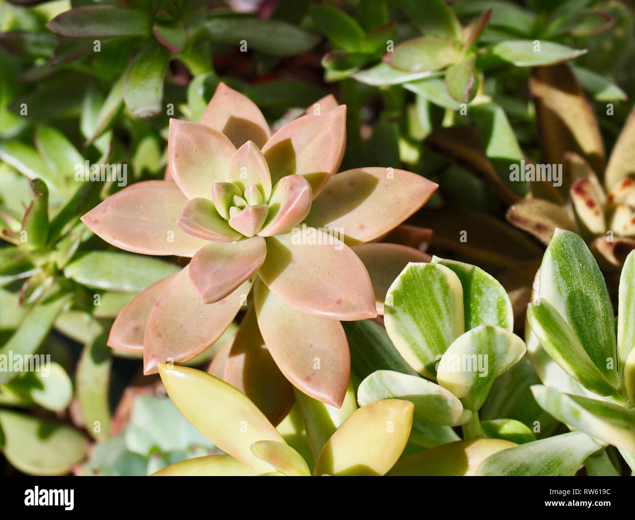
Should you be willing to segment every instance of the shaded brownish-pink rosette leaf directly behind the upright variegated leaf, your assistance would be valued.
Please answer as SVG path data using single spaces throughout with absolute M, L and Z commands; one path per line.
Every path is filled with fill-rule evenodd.
M 408 262 L 430 262 L 432 258 L 421 251 L 401 244 L 370 243 L 351 248 L 366 266 L 375 291 L 377 314 L 384 315 L 384 300 L 392 282 Z

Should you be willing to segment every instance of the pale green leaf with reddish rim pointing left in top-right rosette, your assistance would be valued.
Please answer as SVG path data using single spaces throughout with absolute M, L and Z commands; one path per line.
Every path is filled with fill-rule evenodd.
M 404 72 L 445 69 L 460 60 L 460 43 L 433 36 L 406 40 L 384 55 L 384 62 Z

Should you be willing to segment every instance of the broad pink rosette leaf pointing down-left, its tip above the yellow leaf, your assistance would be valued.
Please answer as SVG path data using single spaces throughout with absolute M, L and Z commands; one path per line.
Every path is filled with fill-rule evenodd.
M 185 266 L 152 307 L 145 326 L 144 374 L 157 373 L 157 363 L 185 363 L 222 336 L 251 289 L 246 281 L 216 303 L 201 303 Z

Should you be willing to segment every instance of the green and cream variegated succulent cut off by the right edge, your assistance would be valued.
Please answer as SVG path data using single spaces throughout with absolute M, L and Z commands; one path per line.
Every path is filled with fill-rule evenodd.
M 527 311 L 527 345 L 544 385 L 538 404 L 570 429 L 616 446 L 635 466 L 635 253 L 620 277 L 617 324 L 598 263 L 582 239 L 556 229 Z

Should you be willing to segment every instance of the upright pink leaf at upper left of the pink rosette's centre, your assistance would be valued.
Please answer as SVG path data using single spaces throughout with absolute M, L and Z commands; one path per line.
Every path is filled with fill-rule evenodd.
M 236 148 L 209 126 L 170 119 L 168 163 L 172 177 L 188 199 L 211 199 L 211 186 L 225 180 Z

